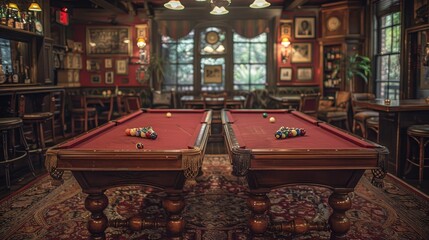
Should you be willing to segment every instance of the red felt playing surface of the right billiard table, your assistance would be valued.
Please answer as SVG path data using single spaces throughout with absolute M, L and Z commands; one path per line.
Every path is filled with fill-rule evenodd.
M 262 113 L 268 114 L 267 118 Z M 374 147 L 365 141 L 316 120 L 305 119 L 298 112 L 287 111 L 233 111 L 232 129 L 241 148 L 249 149 L 357 149 Z M 276 119 L 275 123 L 269 121 Z M 303 128 L 305 136 L 276 139 L 281 127 Z

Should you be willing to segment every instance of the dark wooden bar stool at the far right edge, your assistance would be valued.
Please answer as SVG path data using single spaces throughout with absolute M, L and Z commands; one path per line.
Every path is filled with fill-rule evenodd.
M 419 168 L 419 185 L 421 185 L 423 181 L 423 171 L 425 168 L 429 168 L 428 165 L 425 165 L 425 160 L 428 160 L 429 157 L 425 157 L 425 149 L 429 143 L 429 124 L 423 125 L 412 125 L 407 129 L 407 157 L 405 167 L 405 174 L 411 171 L 411 167 L 417 166 Z M 418 158 L 416 158 L 416 153 L 412 151 L 412 141 L 414 140 L 418 144 Z M 415 160 L 418 159 L 418 162 Z

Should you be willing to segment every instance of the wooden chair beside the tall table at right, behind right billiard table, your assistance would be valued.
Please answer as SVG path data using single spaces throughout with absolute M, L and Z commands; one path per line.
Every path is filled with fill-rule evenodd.
M 362 133 L 362 137 L 367 138 L 367 123 L 366 121 L 372 117 L 378 117 L 379 113 L 376 111 L 359 108 L 356 106 L 356 101 L 363 100 L 374 100 L 375 95 L 373 93 L 352 93 L 352 114 L 353 114 L 353 126 L 352 131 L 356 134 L 359 130 Z M 375 122 L 372 121 L 371 124 Z M 374 126 L 372 126 L 374 127 Z

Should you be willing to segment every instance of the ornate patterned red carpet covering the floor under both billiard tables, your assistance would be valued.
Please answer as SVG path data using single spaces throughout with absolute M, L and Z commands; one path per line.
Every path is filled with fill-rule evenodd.
M 230 174 L 227 155 L 206 155 L 204 174 L 196 185 L 185 186 L 187 220 L 184 239 L 247 239 L 247 186 Z M 1 239 L 87 239 L 89 213 L 83 203 L 86 195 L 69 172 L 64 183 L 53 186 L 48 176 L 14 196 L 0 200 Z M 270 217 L 275 221 L 305 217 L 326 220 L 330 214 L 322 187 L 294 186 L 270 192 Z M 164 216 L 163 192 L 142 186 L 109 189 L 106 192 L 110 218 L 135 214 Z M 407 189 L 398 188 L 389 178 L 383 189 L 373 187 L 367 177 L 361 179 L 351 196 L 353 206 L 347 212 L 352 226 L 348 239 L 429 239 L 429 204 Z M 144 207 L 142 212 L 142 207 Z M 108 228 L 108 239 L 165 239 L 163 229 L 131 232 Z M 329 232 L 303 235 L 268 232 L 265 239 L 329 239 Z

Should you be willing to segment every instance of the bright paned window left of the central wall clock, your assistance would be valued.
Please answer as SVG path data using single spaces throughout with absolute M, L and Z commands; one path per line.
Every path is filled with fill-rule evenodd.
M 163 89 L 193 91 L 194 31 L 179 40 L 162 36 L 161 52 L 165 61 Z

